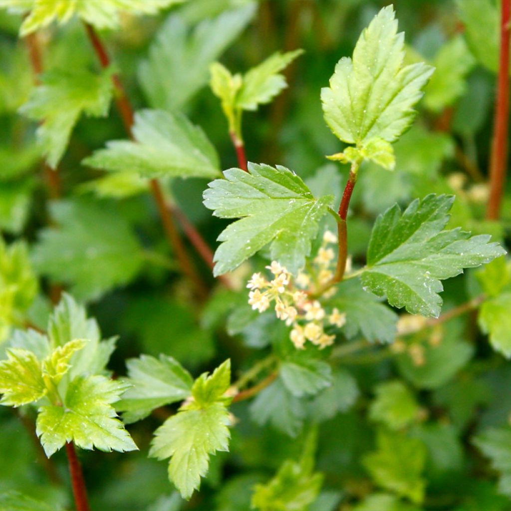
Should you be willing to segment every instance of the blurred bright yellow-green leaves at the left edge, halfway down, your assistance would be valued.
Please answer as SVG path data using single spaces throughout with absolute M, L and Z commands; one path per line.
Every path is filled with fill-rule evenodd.
M 0 236 L 0 342 L 22 323 L 37 290 L 27 245 L 18 241 L 7 246 Z

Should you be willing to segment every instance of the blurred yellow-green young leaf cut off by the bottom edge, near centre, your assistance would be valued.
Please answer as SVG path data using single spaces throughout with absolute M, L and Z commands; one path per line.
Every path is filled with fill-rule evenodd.
M 254 486 L 252 508 L 259 511 L 308 511 L 323 484 L 323 475 L 313 473 L 315 443 L 316 435 L 311 434 L 299 462 L 284 461 L 273 479 Z

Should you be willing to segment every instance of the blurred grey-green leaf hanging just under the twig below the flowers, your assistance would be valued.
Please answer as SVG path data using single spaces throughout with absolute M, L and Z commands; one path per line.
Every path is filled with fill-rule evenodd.
M 280 377 L 259 392 L 250 405 L 255 423 L 270 424 L 291 437 L 300 432 L 305 414 L 305 404 L 291 394 Z

